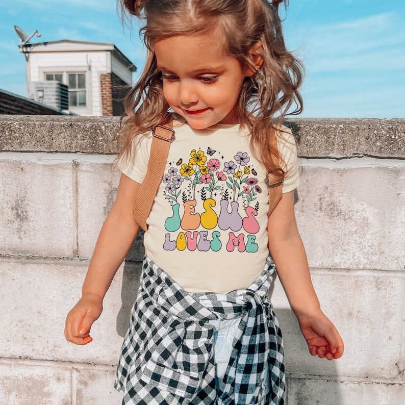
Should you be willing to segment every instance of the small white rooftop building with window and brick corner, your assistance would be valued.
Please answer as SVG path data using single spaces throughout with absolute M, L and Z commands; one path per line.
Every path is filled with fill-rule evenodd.
M 60 108 L 52 104 L 52 94 L 60 89 L 68 92 L 64 107 L 75 114 L 123 113 L 123 99 L 136 67 L 113 43 L 64 39 L 22 44 L 19 48 L 27 59 L 29 98 Z

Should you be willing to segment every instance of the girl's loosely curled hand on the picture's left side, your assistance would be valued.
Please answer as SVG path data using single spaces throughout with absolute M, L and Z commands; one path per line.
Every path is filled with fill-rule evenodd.
M 95 294 L 86 294 L 70 310 L 66 317 L 65 338 L 67 341 L 85 345 L 93 339 L 90 328 L 103 311 L 103 300 Z

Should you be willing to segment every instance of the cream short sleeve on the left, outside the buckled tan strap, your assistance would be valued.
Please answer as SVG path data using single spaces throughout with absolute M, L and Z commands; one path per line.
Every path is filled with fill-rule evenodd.
M 137 183 L 142 183 L 145 178 L 151 143 L 152 137 L 147 135 L 134 139 L 130 159 L 123 157 L 117 161 L 121 172 Z

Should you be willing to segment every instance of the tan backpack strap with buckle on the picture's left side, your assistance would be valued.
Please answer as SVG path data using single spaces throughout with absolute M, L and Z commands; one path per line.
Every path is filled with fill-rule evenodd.
M 167 126 L 156 125 L 152 130 L 152 134 L 153 139 L 150 145 L 147 171 L 142 184 L 139 186 L 132 207 L 134 221 L 139 224 L 144 231 L 147 230 L 146 219 L 149 216 L 165 171 L 170 143 L 175 139 L 173 121 L 170 121 Z

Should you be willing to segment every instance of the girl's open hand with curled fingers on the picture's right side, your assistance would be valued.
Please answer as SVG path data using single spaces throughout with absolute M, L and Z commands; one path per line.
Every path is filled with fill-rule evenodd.
M 297 316 L 299 327 L 312 356 L 327 360 L 343 355 L 343 341 L 335 325 L 323 314 Z

